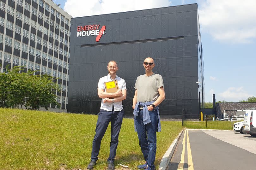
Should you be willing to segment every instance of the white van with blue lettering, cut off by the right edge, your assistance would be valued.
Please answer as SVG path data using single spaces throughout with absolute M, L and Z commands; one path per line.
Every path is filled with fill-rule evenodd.
M 256 109 L 247 110 L 244 114 L 244 133 L 256 137 Z

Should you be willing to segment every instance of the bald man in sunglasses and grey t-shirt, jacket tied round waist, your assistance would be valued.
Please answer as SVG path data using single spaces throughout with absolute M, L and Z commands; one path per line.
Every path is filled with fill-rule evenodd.
M 155 67 L 154 60 L 146 58 L 143 66 L 145 74 L 137 77 L 132 108 L 135 131 L 146 163 L 137 167 L 154 170 L 156 132 L 161 131 L 158 105 L 165 99 L 165 92 L 162 76 L 152 71 Z

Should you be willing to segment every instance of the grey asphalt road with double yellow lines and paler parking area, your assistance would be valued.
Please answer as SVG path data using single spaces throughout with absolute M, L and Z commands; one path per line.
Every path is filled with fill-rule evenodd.
M 184 130 L 166 168 L 176 169 L 255 170 L 256 138 L 233 131 Z

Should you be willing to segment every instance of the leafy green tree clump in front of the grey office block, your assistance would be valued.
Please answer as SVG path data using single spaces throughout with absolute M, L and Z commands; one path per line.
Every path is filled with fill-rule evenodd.
M 7 69 L 0 73 L 0 107 L 17 108 L 19 105 L 27 109 L 46 109 L 49 104 L 59 105 L 56 102 L 57 83 L 52 82 L 48 75 L 33 75 L 34 71 L 19 73 L 21 67 Z

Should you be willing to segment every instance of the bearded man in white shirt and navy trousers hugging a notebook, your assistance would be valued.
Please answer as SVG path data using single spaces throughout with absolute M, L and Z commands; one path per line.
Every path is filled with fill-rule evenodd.
M 103 138 L 109 122 L 111 122 L 111 142 L 110 153 L 107 159 L 108 170 L 114 170 L 114 160 L 116 156 L 116 149 L 118 145 L 118 136 L 121 129 L 124 109 L 122 101 L 126 99 L 126 83 L 116 75 L 118 70 L 117 62 L 110 61 L 107 64 L 108 75 L 102 77 L 98 83 L 98 95 L 101 100 L 101 110 L 99 112 L 97 125 L 95 129 L 95 136 L 92 145 L 91 161 L 87 169 L 93 169 L 93 166 L 98 160 L 98 155 L 101 147 L 101 139 Z M 115 93 L 107 93 L 105 82 L 117 80 L 119 90 Z M 119 97 L 116 97 L 119 96 Z M 116 97 L 116 98 L 113 98 Z

